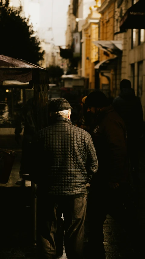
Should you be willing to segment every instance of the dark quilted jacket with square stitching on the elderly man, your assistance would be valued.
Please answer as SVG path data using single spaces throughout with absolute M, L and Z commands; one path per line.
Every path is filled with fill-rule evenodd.
M 35 134 L 31 153 L 32 179 L 52 195 L 85 193 L 88 178 L 98 169 L 90 134 L 65 118 Z

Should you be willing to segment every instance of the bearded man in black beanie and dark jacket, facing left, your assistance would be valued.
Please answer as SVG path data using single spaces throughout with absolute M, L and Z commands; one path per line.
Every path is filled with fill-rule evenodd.
M 103 224 L 107 214 L 120 222 L 133 237 L 134 207 L 125 208 L 128 188 L 127 132 L 123 119 L 109 105 L 103 92 L 91 92 L 85 104 L 94 114 L 91 137 L 98 158 L 97 174 L 92 176 L 87 200 L 90 225 L 88 258 L 105 258 Z M 96 209 L 95 209 L 96 208 Z M 131 213 L 131 214 L 130 214 Z M 133 226 L 133 229 L 132 229 Z M 90 254 L 91 253 L 91 254 Z

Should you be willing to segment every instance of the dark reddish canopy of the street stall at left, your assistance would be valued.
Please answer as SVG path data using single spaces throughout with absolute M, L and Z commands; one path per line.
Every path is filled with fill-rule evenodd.
M 22 83 L 32 81 L 34 84 L 49 84 L 48 70 L 20 60 L 0 54 L 0 82 L 17 80 Z

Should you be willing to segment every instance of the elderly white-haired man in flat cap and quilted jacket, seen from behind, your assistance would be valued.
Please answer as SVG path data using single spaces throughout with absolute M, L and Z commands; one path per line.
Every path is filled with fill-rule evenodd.
M 64 217 L 68 259 L 83 258 L 86 183 L 98 169 L 88 132 L 71 123 L 72 107 L 64 98 L 49 104 L 53 123 L 38 131 L 31 143 L 38 186 L 41 258 L 56 258 L 57 222 Z

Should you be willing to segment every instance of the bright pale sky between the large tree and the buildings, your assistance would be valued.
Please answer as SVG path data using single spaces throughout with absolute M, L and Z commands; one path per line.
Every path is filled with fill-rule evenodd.
M 67 12 L 70 0 L 10 0 L 11 5 L 18 6 L 21 1 L 25 16 L 30 15 L 35 30 L 39 28 L 39 38 L 56 46 L 65 45 Z M 52 27 L 52 30 L 49 28 Z

